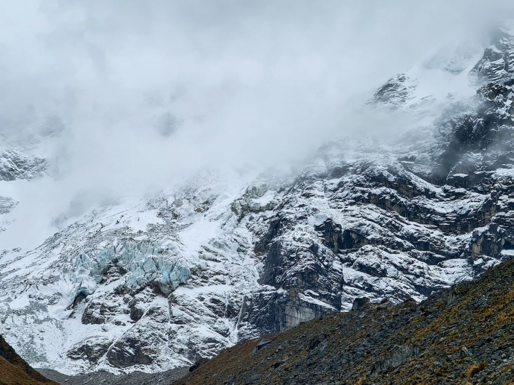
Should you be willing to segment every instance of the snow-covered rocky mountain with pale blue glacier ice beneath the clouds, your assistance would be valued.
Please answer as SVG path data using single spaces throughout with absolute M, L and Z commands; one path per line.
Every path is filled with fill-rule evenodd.
M 356 298 L 419 301 L 514 255 L 513 40 L 503 28 L 379 87 L 363 113 L 413 115 L 407 131 L 342 135 L 287 176 L 209 170 L 54 218 L 35 247 L 6 241 L 0 333 L 35 367 L 160 371 Z M 10 184 L 53 180 L 58 126 L 2 148 L 0 241 L 21 204 Z

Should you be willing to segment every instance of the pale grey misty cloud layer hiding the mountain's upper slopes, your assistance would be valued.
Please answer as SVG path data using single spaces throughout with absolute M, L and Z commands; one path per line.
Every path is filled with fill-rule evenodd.
M 374 90 L 443 44 L 486 46 L 510 3 L 4 3 L 0 132 L 55 135 L 58 182 L 31 194 L 59 205 L 286 165 L 342 133 L 394 130 L 362 112 Z

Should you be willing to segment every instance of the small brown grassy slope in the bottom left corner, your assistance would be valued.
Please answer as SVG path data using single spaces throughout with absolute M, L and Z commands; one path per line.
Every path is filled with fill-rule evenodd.
M 0 336 L 1 385 L 57 385 L 36 372 Z

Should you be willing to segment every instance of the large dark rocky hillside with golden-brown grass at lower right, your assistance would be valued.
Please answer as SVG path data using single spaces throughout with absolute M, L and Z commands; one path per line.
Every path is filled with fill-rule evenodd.
M 514 383 L 514 261 L 416 304 L 354 302 L 228 349 L 174 385 Z

